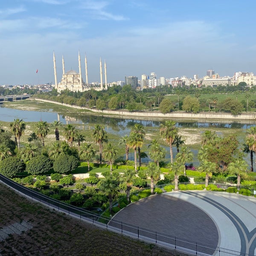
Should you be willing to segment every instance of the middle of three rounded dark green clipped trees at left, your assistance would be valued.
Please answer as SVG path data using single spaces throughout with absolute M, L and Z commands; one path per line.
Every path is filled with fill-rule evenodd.
M 26 171 L 32 175 L 48 173 L 51 169 L 52 161 L 44 155 L 33 157 L 26 164 Z

